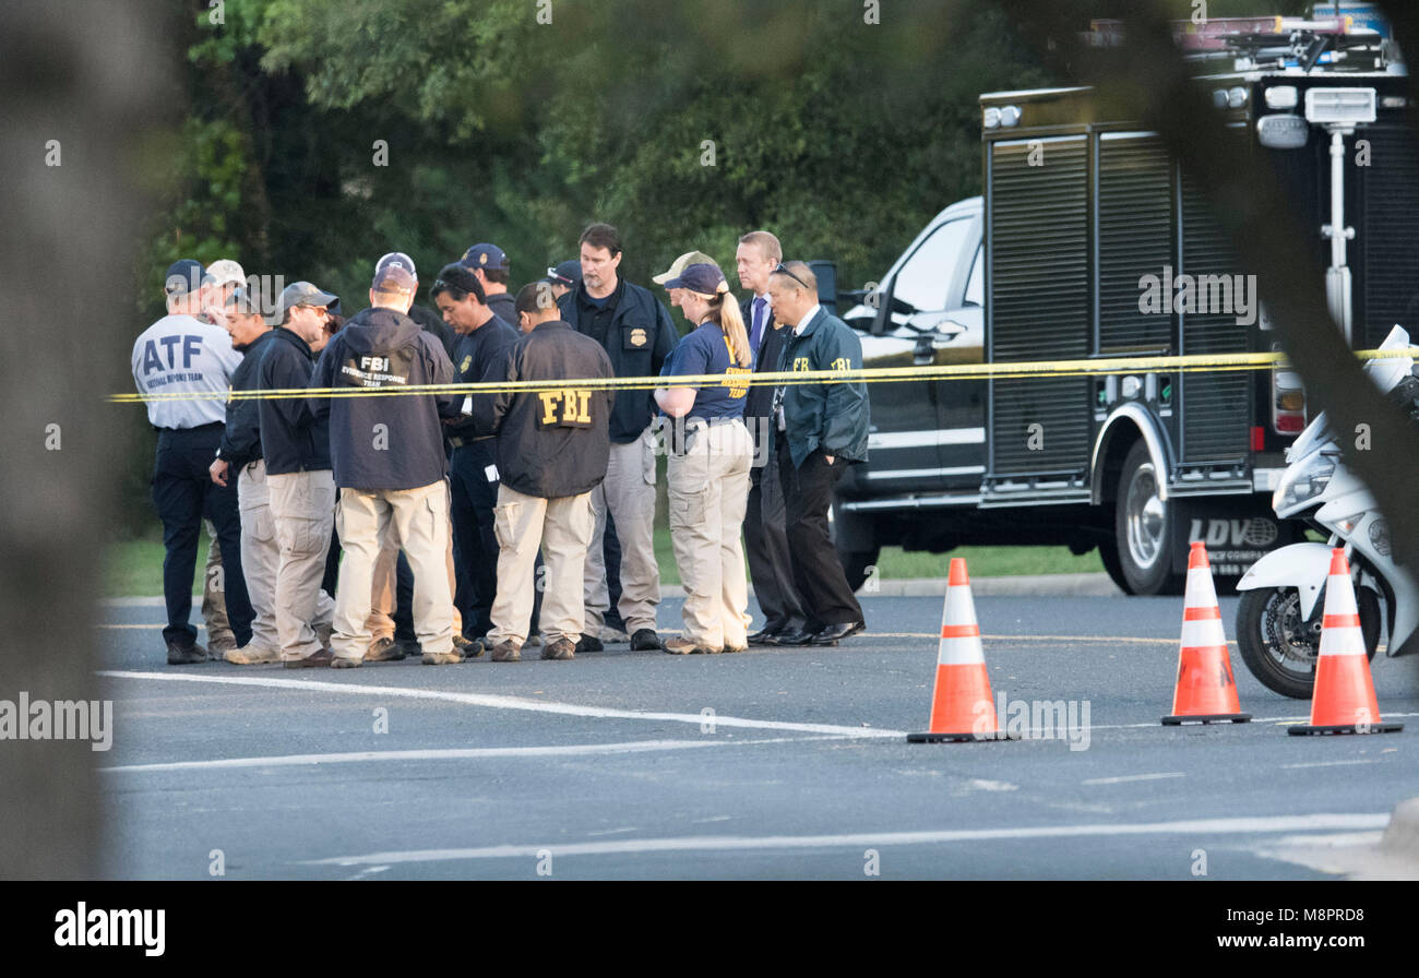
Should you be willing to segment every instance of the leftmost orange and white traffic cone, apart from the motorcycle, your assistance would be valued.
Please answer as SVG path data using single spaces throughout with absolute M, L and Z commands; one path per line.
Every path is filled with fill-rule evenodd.
M 908 744 L 944 741 L 1006 740 L 990 700 L 990 677 L 985 671 L 981 626 L 971 600 L 966 562 L 951 559 L 946 605 L 941 616 L 941 644 L 937 646 L 937 686 L 931 694 L 931 730 L 908 734 Z

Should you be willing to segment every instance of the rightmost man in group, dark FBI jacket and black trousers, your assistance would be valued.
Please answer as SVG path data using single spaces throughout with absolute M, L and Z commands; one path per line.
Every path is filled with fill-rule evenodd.
M 789 261 L 769 277 L 773 315 L 793 332 L 779 370 L 860 370 L 857 334 L 817 304 L 807 264 Z M 847 586 L 827 529 L 833 487 L 847 466 L 867 458 L 867 385 L 861 380 L 790 383 L 775 392 L 773 441 L 788 510 L 793 581 L 809 619 L 792 644 L 836 646 L 861 632 L 863 609 Z M 790 644 L 783 637 L 779 644 Z

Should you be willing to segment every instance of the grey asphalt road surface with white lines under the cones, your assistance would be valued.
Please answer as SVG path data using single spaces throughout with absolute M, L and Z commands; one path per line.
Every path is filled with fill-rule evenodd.
M 864 608 L 868 632 L 837 649 L 339 671 L 169 667 L 160 608 L 108 608 L 106 872 L 1335 879 L 1315 853 L 1374 843 L 1419 795 L 1419 663 L 1375 660 L 1399 734 L 1287 737 L 1308 704 L 1235 647 L 1256 720 L 1162 727 L 1181 598 L 976 598 L 996 698 L 1030 704 L 1032 735 L 908 745 L 941 600 Z M 1235 615 L 1223 599 L 1229 637 Z M 660 622 L 678 626 L 678 600 Z M 1061 728 L 1036 701 L 1064 703 Z

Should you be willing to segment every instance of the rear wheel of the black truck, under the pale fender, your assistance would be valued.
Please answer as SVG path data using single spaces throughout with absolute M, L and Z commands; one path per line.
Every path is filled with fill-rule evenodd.
M 1122 588 L 1131 595 L 1181 595 L 1186 582 L 1185 575 L 1172 569 L 1178 515 L 1176 507 L 1158 495 L 1164 478 L 1164 473 L 1154 470 L 1148 447 L 1135 441 L 1124 458 L 1114 501 L 1118 569 Z

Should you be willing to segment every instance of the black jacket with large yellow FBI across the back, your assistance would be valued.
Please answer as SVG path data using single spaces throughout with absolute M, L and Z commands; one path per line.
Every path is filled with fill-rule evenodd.
M 565 322 L 541 322 L 511 346 L 499 373 L 502 380 L 609 378 L 612 362 L 600 344 Z M 531 390 L 477 399 L 478 432 L 498 436 L 502 484 L 543 500 L 596 488 L 610 457 L 613 393 Z

